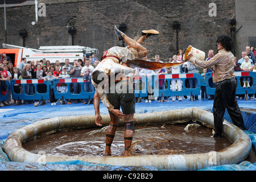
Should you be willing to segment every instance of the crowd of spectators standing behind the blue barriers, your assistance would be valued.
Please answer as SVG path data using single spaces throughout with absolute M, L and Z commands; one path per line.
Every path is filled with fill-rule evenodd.
M 177 55 L 173 55 L 168 61 L 170 63 L 179 63 L 184 60 L 183 51 L 179 50 Z M 208 51 L 208 57 L 205 61 L 209 61 L 214 56 L 214 51 L 211 49 Z M 256 63 L 255 63 L 256 51 L 254 47 L 247 46 L 245 51 L 241 52 L 240 59 L 234 59 L 234 71 L 245 71 L 245 72 L 256 72 Z M 143 59 L 148 60 L 147 57 Z M 162 59 L 163 60 L 163 59 Z M 154 56 L 153 61 L 158 62 L 166 62 L 162 61 L 159 55 Z M 149 60 L 151 61 L 151 60 Z M 44 105 L 46 101 L 31 101 L 31 100 L 18 100 L 14 101 L 11 96 L 11 89 L 7 89 L 6 81 L 15 80 L 15 79 L 31 79 L 31 78 L 43 78 L 44 81 L 49 80 L 52 82 L 57 78 L 70 78 L 70 77 L 83 77 L 84 80 L 90 81 L 91 74 L 94 71 L 94 68 L 100 63 L 95 55 L 89 57 L 89 59 L 85 59 L 82 61 L 81 59 L 73 60 L 73 64 L 69 63 L 69 59 L 65 60 L 65 64 L 61 65 L 60 61 L 56 60 L 55 63 L 50 63 L 49 60 L 43 59 L 40 61 L 27 61 L 26 58 L 22 59 L 22 62 L 19 65 L 19 68 L 14 67 L 11 63 L 10 57 L 8 57 L 5 53 L 3 53 L 2 63 L 0 64 L 0 86 L 1 93 L 3 96 L 7 94 L 7 100 L 0 102 L 0 107 L 2 106 L 10 106 L 21 105 L 21 104 L 33 104 L 35 106 Z M 212 72 L 212 69 L 201 69 L 195 67 L 193 64 L 186 62 L 183 65 L 171 67 L 171 68 L 163 68 L 158 71 L 151 71 L 144 68 L 135 68 L 135 76 L 147 76 L 148 81 L 152 75 L 163 75 L 163 74 L 180 74 L 180 73 L 199 73 L 205 79 L 205 74 L 208 72 Z M 158 89 L 167 89 L 167 81 L 164 79 L 159 79 Z M 250 87 L 253 83 L 251 77 L 242 77 L 239 81 L 240 85 L 243 88 Z M 171 90 L 172 91 L 180 91 L 183 88 L 183 80 L 179 78 L 174 78 L 171 80 Z M 196 78 L 188 78 L 184 83 L 186 88 L 196 88 L 197 87 L 197 79 Z M 215 84 L 212 79 L 209 80 L 209 86 L 214 88 Z M 82 88 L 81 88 L 82 87 Z M 67 93 L 68 86 L 64 83 L 57 84 L 57 92 Z M 72 82 L 70 85 L 70 91 L 74 94 L 80 93 L 81 89 L 84 89 L 85 92 L 94 92 L 94 87 L 91 82 L 85 82 L 84 85 L 80 85 L 79 83 Z M 150 88 L 152 91 L 152 88 Z M 166 102 L 168 100 L 171 101 L 182 101 L 183 99 L 187 99 L 187 96 L 172 96 L 172 97 L 158 97 L 154 98 L 152 96 L 152 92 L 150 93 L 150 89 L 148 89 L 148 97 L 142 98 L 145 102 L 151 102 L 151 100 L 158 100 L 158 102 Z M 14 93 L 22 93 L 26 92 L 27 95 L 32 95 L 35 92 L 33 84 L 25 84 L 24 88 L 20 84 L 15 84 L 13 87 Z M 39 93 L 46 93 L 47 88 L 45 84 L 38 84 L 37 90 Z M 192 96 L 194 100 L 198 100 L 198 96 Z M 244 95 L 237 95 L 239 99 L 245 98 Z M 51 105 L 56 105 L 57 100 L 55 99 L 53 89 L 50 90 L 49 101 Z M 256 100 L 256 93 L 249 94 L 250 99 Z M 206 92 L 206 85 L 203 82 L 201 84 L 201 100 L 213 100 L 214 95 L 209 95 Z M 138 98 L 137 101 L 141 100 Z M 93 99 L 85 99 L 85 100 L 60 100 L 61 104 L 71 104 L 83 102 L 83 104 L 92 104 Z

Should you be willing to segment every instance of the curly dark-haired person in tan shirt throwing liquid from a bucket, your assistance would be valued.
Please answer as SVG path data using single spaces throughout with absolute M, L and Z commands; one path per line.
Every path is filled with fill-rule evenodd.
M 199 60 L 189 52 L 187 59 L 200 68 L 213 67 L 213 82 L 216 91 L 213 103 L 213 117 L 215 133 L 213 137 L 222 137 L 222 126 L 225 109 L 228 110 L 234 125 L 245 130 L 243 117 L 236 100 L 237 81 L 234 74 L 234 42 L 228 35 L 220 35 L 216 40 L 218 53 L 209 61 Z

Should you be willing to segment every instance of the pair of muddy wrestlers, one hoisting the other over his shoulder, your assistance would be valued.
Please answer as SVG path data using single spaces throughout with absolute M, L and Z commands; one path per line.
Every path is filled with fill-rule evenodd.
M 110 115 L 110 124 L 106 130 L 106 155 L 111 155 L 111 144 L 115 136 L 119 119 L 125 123 L 125 156 L 129 156 L 134 134 L 135 97 L 133 90 L 134 69 L 126 66 L 127 60 L 142 59 L 147 55 L 147 49 L 141 43 L 151 35 L 158 35 L 156 30 L 143 30 L 138 41 L 129 38 L 115 26 L 118 40 L 123 40 L 127 47 L 112 47 L 106 51 L 104 59 L 92 73 L 92 84 L 96 88 L 94 94 L 94 109 L 96 125 L 102 126 L 100 115 L 100 99 Z M 112 79 L 113 77 L 114 79 Z M 114 83 L 113 83 L 114 82 Z M 114 85 L 114 86 L 112 86 Z M 120 111 L 120 107 L 122 111 Z

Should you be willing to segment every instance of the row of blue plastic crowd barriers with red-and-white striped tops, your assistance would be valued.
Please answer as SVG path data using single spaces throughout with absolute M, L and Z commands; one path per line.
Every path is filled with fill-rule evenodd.
M 237 79 L 237 94 L 255 94 L 256 90 L 256 73 L 254 72 L 235 72 Z M 244 76 L 249 76 L 251 78 L 250 88 L 243 88 L 243 85 L 240 85 L 240 80 Z M 209 86 L 209 79 L 212 77 L 212 73 L 207 73 L 205 76 L 206 88 L 208 95 L 214 95 L 215 88 Z M 187 88 L 186 82 L 189 78 L 195 78 L 197 80 L 197 85 L 195 88 Z M 182 80 L 182 89 L 180 91 L 172 91 L 171 89 L 171 80 L 172 79 L 181 79 Z M 159 90 L 159 80 L 164 80 L 164 85 L 167 85 L 163 90 Z M 84 78 L 59 78 L 50 81 L 44 81 L 43 79 L 23 79 L 23 80 L 11 80 L 11 85 L 9 81 L 7 82 L 8 88 L 11 88 L 11 93 L 13 100 L 48 100 L 49 99 L 49 90 L 53 89 L 55 93 L 55 98 L 59 99 L 89 99 L 93 98 L 95 89 L 93 92 L 85 92 L 84 84 L 89 81 L 85 81 Z M 167 82 L 167 84 L 166 84 Z M 134 93 L 135 97 L 147 97 L 152 93 L 154 97 L 170 97 L 170 96 L 195 96 L 201 93 L 201 84 L 204 82 L 204 78 L 198 73 L 181 73 L 181 74 L 167 74 L 167 75 L 153 75 L 153 76 L 135 76 L 134 79 Z M 242 81 L 241 81 L 242 82 Z M 74 94 L 72 90 L 72 84 L 77 83 L 80 85 L 80 90 L 78 94 Z M 27 84 L 33 85 L 33 94 L 29 95 L 25 92 L 25 87 Z M 67 86 L 67 92 L 61 93 L 60 90 L 57 90 L 57 86 L 60 84 L 65 84 Z M 22 92 L 15 93 L 14 85 L 21 85 Z M 39 86 L 45 85 L 46 92 L 39 92 Z M 191 97 L 193 98 L 193 97 Z M 7 100 L 7 94 L 2 96 L 0 94 L 0 101 Z M 193 100 L 191 100 L 193 101 Z

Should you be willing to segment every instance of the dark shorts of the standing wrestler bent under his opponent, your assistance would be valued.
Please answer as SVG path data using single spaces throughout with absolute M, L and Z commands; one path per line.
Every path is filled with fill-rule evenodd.
M 129 81 L 115 82 L 115 89 L 109 86 L 107 94 L 108 101 L 114 106 L 114 109 L 122 109 L 123 114 L 128 115 L 135 113 L 135 96 L 133 84 Z M 110 114 L 111 111 L 109 111 Z

